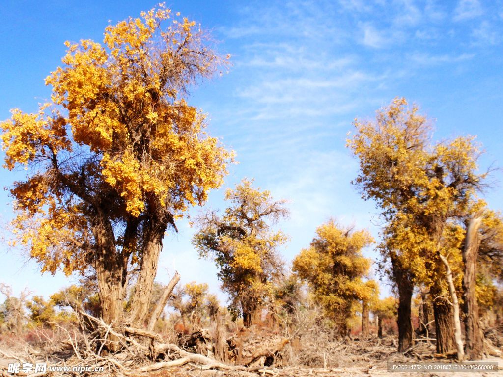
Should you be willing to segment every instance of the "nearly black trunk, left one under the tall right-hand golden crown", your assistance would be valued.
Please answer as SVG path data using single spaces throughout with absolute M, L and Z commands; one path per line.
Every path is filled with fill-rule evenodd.
M 407 270 L 403 268 L 398 258 L 391 259 L 393 265 L 393 277 L 398 288 L 398 352 L 404 352 L 412 345 L 413 328 L 412 318 L 410 315 L 410 304 L 412 302 L 412 294 L 414 285 L 411 276 Z

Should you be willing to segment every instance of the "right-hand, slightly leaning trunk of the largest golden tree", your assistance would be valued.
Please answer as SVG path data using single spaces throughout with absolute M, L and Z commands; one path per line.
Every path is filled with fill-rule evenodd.
M 132 326 L 143 327 L 148 320 L 150 295 L 157 274 L 157 262 L 162 250 L 162 238 L 167 228 L 167 223 L 157 223 L 157 219 L 150 220 L 142 247 L 141 262 L 135 292 L 131 301 L 130 321 Z

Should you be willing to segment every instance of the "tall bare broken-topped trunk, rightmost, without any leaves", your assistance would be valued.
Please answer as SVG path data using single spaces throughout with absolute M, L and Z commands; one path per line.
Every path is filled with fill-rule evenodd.
M 483 355 L 484 335 L 480 328 L 476 287 L 476 263 L 480 239 L 478 230 L 482 225 L 481 217 L 472 217 L 466 230 L 463 248 L 463 312 L 465 314 L 466 358 L 479 360 Z

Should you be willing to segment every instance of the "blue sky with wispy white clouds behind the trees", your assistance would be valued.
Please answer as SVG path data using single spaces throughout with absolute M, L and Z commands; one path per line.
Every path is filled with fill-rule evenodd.
M 34 112 L 49 97 L 44 78 L 60 64 L 65 40 L 102 41 L 108 25 L 136 17 L 145 1 L 18 1 L 0 10 L 0 119 L 9 110 Z M 351 186 L 357 161 L 345 148 L 355 117 L 371 119 L 403 96 L 435 119 L 436 139 L 477 135 L 482 168 L 503 166 L 503 1 L 173 1 L 166 6 L 201 22 L 232 55 L 229 73 L 205 82 L 190 103 L 209 116 L 208 130 L 237 152 L 226 185 L 255 177 L 289 201 L 280 227 L 290 236 L 290 261 L 330 217 L 368 227 L 378 236 L 373 203 Z M 3 155 L 2 155 L 3 159 Z M 3 185 L 21 175 L 0 170 Z M 486 199 L 503 209 L 503 175 L 492 176 Z M 223 208 L 222 190 L 208 207 Z M 192 211 L 197 215 L 199 209 Z M 0 192 L 3 228 L 13 216 Z M 207 282 L 218 291 L 216 269 L 199 260 L 185 220 L 164 240 L 158 279 L 177 269 L 182 282 Z M 5 235 L 5 231 L 3 232 Z M 7 237 L 7 236 L 6 236 Z M 378 258 L 372 249 L 365 253 Z M 0 281 L 48 296 L 74 282 L 41 275 L 17 250 L 0 246 Z M 386 292 L 387 289 L 383 287 Z M 223 296 L 221 296 L 223 297 Z

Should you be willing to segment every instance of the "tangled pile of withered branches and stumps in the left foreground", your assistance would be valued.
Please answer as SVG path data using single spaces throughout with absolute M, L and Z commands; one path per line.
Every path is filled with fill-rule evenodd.
M 102 319 L 94 317 L 83 311 L 76 313 L 81 323 L 86 323 L 88 331 L 80 326 L 80 329 L 74 328 L 68 330 L 59 327 L 61 334 L 66 335 L 58 340 L 59 347 L 50 339 L 44 340 L 41 336 L 40 345 L 45 352 L 35 351 L 29 347 L 17 347 L 16 354 L 10 354 L 0 349 L 0 354 L 8 359 L 13 359 L 23 363 L 48 362 L 51 366 L 82 366 L 87 365 L 92 369 L 104 367 L 104 372 L 116 375 L 141 375 L 144 373 L 157 371 L 161 369 L 173 368 L 176 366 L 192 364 L 199 370 L 217 369 L 228 371 L 264 372 L 265 362 L 268 357 L 276 355 L 280 349 L 288 343 L 288 339 L 281 339 L 276 342 L 266 342 L 257 347 L 253 352 L 241 348 L 235 348 L 229 342 L 223 348 L 220 358 L 226 362 L 217 360 L 211 356 L 205 356 L 200 353 L 192 353 L 184 347 L 165 341 L 161 335 L 145 329 L 122 326 L 113 327 L 105 323 Z M 89 332 L 89 324 L 93 325 L 94 330 Z M 194 351 L 201 351 L 204 348 L 210 349 L 209 355 L 214 355 L 214 343 L 208 337 L 203 335 L 193 337 L 198 342 L 198 347 Z M 202 343 L 202 344 L 201 344 Z M 118 349 L 115 353 L 109 353 L 107 349 Z M 191 349 L 191 348 L 188 348 Z M 49 352 L 51 350 L 51 352 Z M 47 353 L 44 357 L 42 354 Z M 224 357 L 222 355 L 225 354 Z M 217 356 L 218 357 L 218 356 Z M 239 362 L 239 364 L 237 364 Z M 54 373 L 37 372 L 28 374 L 32 377 L 44 375 L 74 375 L 75 372 L 67 374 L 61 371 Z M 94 372 L 80 372 L 79 375 L 95 375 Z M 5 374 L 9 375 L 9 374 Z

